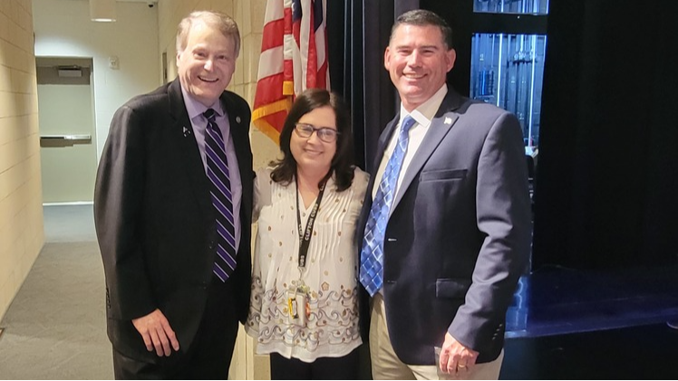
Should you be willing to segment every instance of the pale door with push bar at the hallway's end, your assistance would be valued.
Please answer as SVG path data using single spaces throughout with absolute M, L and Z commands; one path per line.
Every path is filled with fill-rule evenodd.
M 35 57 L 44 204 L 91 203 L 96 176 L 92 58 Z

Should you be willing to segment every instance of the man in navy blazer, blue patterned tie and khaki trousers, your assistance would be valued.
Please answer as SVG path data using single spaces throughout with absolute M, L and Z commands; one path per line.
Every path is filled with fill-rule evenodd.
M 415 10 L 396 20 L 384 54 L 402 105 L 379 140 L 357 234 L 364 237 L 360 278 L 371 293 L 361 319 L 371 317 L 374 379 L 497 379 L 506 312 L 528 262 L 518 119 L 448 88 L 451 38 L 440 16 Z M 402 162 L 394 164 L 410 118 Z M 398 166 L 393 190 L 384 173 Z M 393 193 L 385 214 L 380 187 Z

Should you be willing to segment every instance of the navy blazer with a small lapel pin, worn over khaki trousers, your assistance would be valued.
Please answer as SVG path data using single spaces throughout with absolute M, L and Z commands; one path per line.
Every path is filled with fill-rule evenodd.
M 373 174 L 399 119 L 382 133 Z M 386 319 L 404 363 L 433 365 L 433 347 L 446 332 L 479 351 L 480 363 L 499 356 L 531 241 L 522 141 L 515 116 L 451 89 L 432 119 L 393 199 L 384 239 Z M 371 178 L 358 237 L 374 181 L 381 178 Z M 363 332 L 368 305 L 363 297 Z

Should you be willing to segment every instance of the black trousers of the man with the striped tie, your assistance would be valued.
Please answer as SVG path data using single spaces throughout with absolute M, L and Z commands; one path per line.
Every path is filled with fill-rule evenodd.
M 156 364 L 150 364 L 126 357 L 113 349 L 115 379 L 228 379 L 228 368 L 237 338 L 236 304 L 231 283 L 219 281 L 215 277 L 215 281 L 210 284 L 200 327 L 185 355 L 172 353 L 169 357 L 159 357 Z

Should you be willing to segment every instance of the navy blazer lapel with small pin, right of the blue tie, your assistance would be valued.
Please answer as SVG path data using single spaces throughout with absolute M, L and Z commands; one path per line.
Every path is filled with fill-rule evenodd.
M 412 180 L 421 171 L 421 168 L 429 160 L 429 157 L 435 152 L 436 148 L 441 144 L 441 141 L 450 132 L 454 123 L 459 119 L 459 114 L 450 112 L 459 108 L 460 96 L 453 90 L 448 90 L 445 99 L 441 103 L 441 107 L 431 120 L 431 127 L 426 132 L 426 136 L 421 141 L 421 146 L 417 153 L 412 157 L 410 166 L 407 167 L 405 176 L 402 177 L 402 184 L 398 188 L 398 192 L 393 199 L 391 210 L 394 210 L 398 203 L 402 200 L 404 195 L 412 185 Z M 383 155 L 383 151 L 382 151 Z

